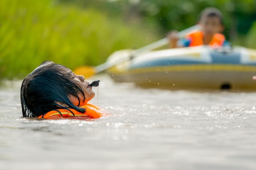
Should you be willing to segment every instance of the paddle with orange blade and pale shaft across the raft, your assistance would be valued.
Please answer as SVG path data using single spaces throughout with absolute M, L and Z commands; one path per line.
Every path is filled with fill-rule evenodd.
M 178 32 L 178 36 L 180 38 L 184 37 L 186 34 L 195 31 L 195 30 L 199 30 L 200 26 L 199 25 L 194 25 L 191 26 L 187 29 L 184 29 L 183 31 Z M 100 73 L 101 71 L 106 71 L 108 68 L 111 68 L 113 66 L 117 66 L 118 64 L 121 64 L 122 62 L 131 60 L 132 58 L 142 54 L 142 53 L 146 53 L 150 50 L 156 49 L 160 46 L 163 46 L 165 44 L 167 44 L 169 42 L 169 39 L 163 38 L 161 40 L 158 40 L 156 42 L 153 42 L 152 44 L 148 44 L 144 47 L 141 47 L 140 49 L 137 49 L 135 51 L 132 51 L 132 53 L 130 54 L 130 57 L 127 57 L 126 60 L 121 60 L 119 62 L 115 62 L 115 63 L 110 63 L 110 62 L 105 62 L 103 64 L 100 64 L 99 66 L 96 67 L 91 67 L 91 66 L 81 66 L 79 68 L 76 68 L 74 70 L 74 73 L 77 75 L 83 75 L 85 78 L 91 77 L 94 74 Z

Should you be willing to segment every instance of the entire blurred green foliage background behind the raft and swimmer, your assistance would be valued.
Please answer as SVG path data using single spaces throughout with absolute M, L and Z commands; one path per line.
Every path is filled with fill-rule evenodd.
M 1 0 L 0 77 L 23 79 L 45 60 L 96 66 L 195 25 L 206 7 L 222 11 L 233 45 L 256 48 L 256 0 Z

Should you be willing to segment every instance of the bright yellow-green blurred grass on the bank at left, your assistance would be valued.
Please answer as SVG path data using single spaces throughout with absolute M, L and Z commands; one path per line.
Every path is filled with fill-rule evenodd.
M 45 60 L 95 66 L 114 51 L 159 39 L 138 23 L 54 0 L 1 0 L 0 24 L 1 79 L 23 79 Z

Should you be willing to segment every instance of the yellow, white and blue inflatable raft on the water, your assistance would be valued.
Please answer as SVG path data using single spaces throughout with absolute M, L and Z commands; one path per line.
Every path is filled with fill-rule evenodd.
M 117 51 L 108 63 L 116 82 L 169 89 L 256 90 L 256 50 L 243 47 L 196 46 L 150 51 L 131 57 L 132 50 Z M 130 58 L 129 58 L 130 57 Z

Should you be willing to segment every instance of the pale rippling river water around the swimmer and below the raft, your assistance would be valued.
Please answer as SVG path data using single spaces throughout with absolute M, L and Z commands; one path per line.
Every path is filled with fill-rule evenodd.
M 85 120 L 21 118 L 21 81 L 0 85 L 0 170 L 255 170 L 256 93 L 114 83 Z M 98 94 L 98 101 L 97 101 Z

